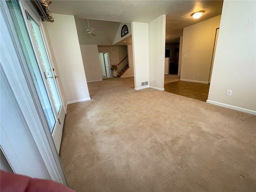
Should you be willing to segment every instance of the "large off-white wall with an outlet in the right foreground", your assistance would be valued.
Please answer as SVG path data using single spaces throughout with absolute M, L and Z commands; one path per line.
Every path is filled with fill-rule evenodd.
M 255 12 L 255 1 L 224 0 L 207 102 L 256 115 Z

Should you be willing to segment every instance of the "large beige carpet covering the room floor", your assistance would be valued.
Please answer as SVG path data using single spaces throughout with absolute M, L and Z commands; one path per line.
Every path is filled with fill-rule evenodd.
M 255 192 L 256 116 L 151 88 L 88 83 L 60 158 L 78 192 Z

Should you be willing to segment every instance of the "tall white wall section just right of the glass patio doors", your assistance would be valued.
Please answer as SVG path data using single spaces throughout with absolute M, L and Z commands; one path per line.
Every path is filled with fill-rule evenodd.
M 74 16 L 52 14 L 46 23 L 67 103 L 90 100 Z

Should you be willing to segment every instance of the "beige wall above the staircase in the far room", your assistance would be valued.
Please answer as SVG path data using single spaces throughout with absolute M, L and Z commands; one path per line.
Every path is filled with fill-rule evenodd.
M 117 46 L 111 46 L 111 47 L 98 47 L 99 52 L 108 52 L 109 60 L 110 60 L 110 67 L 111 65 L 117 65 L 119 62 L 121 62 L 125 56 L 127 56 L 127 46 L 126 45 L 117 45 Z M 128 63 L 128 59 L 126 60 Z M 122 64 L 125 64 L 123 62 Z M 118 66 L 118 71 L 121 70 L 122 64 Z

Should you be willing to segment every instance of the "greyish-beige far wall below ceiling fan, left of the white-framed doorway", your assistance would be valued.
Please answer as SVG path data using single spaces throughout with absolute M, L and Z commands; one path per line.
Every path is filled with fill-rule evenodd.
M 87 82 L 102 81 L 97 45 L 80 45 Z

